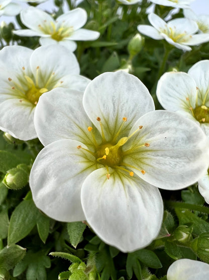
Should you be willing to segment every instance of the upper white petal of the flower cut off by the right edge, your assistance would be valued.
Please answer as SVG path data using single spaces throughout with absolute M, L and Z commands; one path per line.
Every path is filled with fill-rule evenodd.
M 209 60 L 203 60 L 195 63 L 189 69 L 188 74 L 194 79 L 198 88 L 198 105 L 202 105 L 202 101 L 205 98 L 205 106 L 209 107 Z

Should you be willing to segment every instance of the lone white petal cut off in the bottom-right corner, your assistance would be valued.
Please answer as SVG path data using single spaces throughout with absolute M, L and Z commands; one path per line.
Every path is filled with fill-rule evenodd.
M 168 280 L 206 280 L 209 279 L 209 264 L 190 259 L 174 261 L 167 272 Z

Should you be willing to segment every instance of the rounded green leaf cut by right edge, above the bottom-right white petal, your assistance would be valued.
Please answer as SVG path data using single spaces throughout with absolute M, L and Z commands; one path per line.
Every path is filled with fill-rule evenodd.
M 191 243 L 192 250 L 198 258 L 209 263 L 209 233 L 203 233 Z

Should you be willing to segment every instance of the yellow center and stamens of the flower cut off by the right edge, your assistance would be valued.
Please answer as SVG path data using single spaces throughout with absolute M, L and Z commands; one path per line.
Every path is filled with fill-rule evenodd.
M 197 104 L 199 89 L 198 88 L 196 88 L 196 89 L 197 89 L 197 93 L 196 93 L 195 108 L 192 108 L 191 103 L 189 101 L 189 97 L 186 98 L 186 100 L 188 101 L 188 104 L 189 104 L 189 110 L 191 111 L 192 116 L 199 123 L 209 123 L 209 108 L 207 106 L 205 106 L 206 97 L 207 97 L 209 89 L 206 91 L 201 105 Z M 201 100 L 201 98 L 200 98 L 200 100 Z

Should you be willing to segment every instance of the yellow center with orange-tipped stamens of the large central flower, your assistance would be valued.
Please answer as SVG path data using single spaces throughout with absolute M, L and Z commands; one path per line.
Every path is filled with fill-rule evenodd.
M 128 172 L 130 176 L 134 176 L 134 172 L 130 169 L 136 169 L 139 170 L 142 174 L 145 174 L 146 172 L 144 170 L 140 170 L 138 169 L 138 167 L 127 164 L 123 161 L 123 157 L 124 157 L 124 152 L 122 150 L 122 146 L 124 144 L 126 144 L 126 142 L 135 134 L 137 133 L 139 130 L 141 130 L 143 128 L 143 126 L 139 126 L 138 129 L 136 131 L 134 131 L 130 136 L 128 137 L 122 137 L 120 138 L 118 141 L 118 136 L 121 132 L 121 129 L 124 125 L 124 123 L 127 121 L 127 118 L 123 118 L 123 123 L 120 126 L 118 132 L 116 133 L 116 135 L 113 137 L 112 141 L 107 142 L 106 138 L 104 136 L 104 131 L 103 131 L 103 127 L 102 127 L 102 123 L 99 117 L 97 117 L 96 119 L 99 123 L 100 123 L 100 128 L 101 128 L 101 136 L 102 136 L 102 142 L 101 144 L 97 144 L 96 139 L 94 137 L 94 134 L 92 132 L 92 127 L 88 127 L 88 131 L 91 133 L 92 135 L 92 140 L 95 146 L 95 151 L 92 152 L 88 149 L 85 149 L 83 147 L 81 147 L 80 145 L 77 146 L 78 149 L 83 149 L 89 153 L 91 153 L 93 156 L 95 156 L 95 160 L 96 162 L 104 165 L 104 167 L 106 167 L 107 170 L 107 178 L 110 179 L 110 174 L 109 174 L 109 167 L 111 167 L 112 169 L 117 169 L 117 170 L 123 170 L 125 172 Z M 145 143 L 141 146 L 138 146 L 138 148 L 140 147 L 149 147 L 150 144 L 149 143 Z M 128 168 L 128 169 L 127 169 Z

